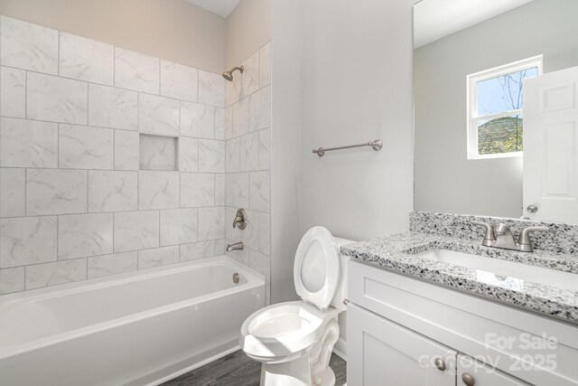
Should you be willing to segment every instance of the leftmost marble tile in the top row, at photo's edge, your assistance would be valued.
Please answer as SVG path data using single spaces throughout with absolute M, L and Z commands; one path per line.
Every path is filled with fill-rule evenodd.
M 58 31 L 0 16 L 0 63 L 58 73 Z

